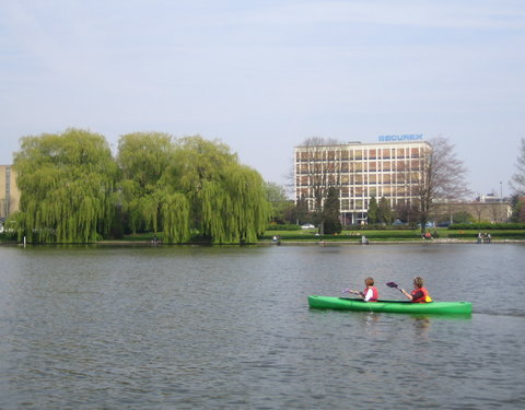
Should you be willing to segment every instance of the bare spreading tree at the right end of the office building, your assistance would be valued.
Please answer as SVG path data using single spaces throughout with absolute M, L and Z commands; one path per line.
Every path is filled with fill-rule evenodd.
M 444 137 L 429 141 L 429 150 L 421 159 L 420 173 L 413 186 L 413 195 L 419 208 L 421 232 L 439 200 L 459 200 L 469 195 L 466 187 L 466 168 L 454 153 L 454 145 Z

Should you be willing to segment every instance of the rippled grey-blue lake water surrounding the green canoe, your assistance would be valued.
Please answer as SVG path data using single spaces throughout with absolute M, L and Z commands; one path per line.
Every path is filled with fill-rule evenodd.
M 525 246 L 0 247 L 0 409 L 521 409 Z M 425 278 L 470 318 L 314 311 Z

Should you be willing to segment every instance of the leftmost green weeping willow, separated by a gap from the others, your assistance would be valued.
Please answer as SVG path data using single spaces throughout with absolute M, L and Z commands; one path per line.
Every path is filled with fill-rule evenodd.
M 19 241 L 88 243 L 108 232 L 117 167 L 103 136 L 68 129 L 24 137 L 13 167 L 21 191 Z

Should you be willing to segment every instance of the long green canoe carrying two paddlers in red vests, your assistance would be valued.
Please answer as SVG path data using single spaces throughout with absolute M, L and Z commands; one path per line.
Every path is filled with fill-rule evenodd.
M 388 312 L 410 314 L 465 315 L 472 313 L 470 302 L 430 302 L 411 303 L 409 301 L 364 302 L 361 298 L 308 296 L 310 307 L 325 309 L 346 309 L 361 312 Z

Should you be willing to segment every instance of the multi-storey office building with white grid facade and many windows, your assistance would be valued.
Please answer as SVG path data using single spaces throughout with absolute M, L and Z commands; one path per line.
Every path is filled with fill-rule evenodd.
M 372 197 L 386 198 L 392 208 L 410 206 L 430 150 L 424 141 L 295 147 L 295 201 L 313 210 L 316 186 L 336 186 L 343 224 L 364 223 Z

